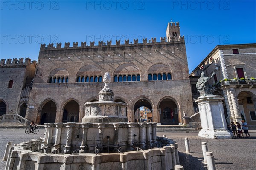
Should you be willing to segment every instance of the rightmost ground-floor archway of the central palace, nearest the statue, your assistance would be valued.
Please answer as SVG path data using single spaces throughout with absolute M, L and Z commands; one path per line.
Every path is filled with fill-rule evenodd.
M 161 100 L 158 105 L 161 125 L 178 125 L 179 111 L 175 101 L 171 98 Z

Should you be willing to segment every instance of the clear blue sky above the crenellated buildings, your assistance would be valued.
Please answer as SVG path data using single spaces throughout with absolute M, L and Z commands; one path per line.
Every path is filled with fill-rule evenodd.
M 189 72 L 216 46 L 256 42 L 255 0 L 0 1 L 0 58 L 38 59 L 41 43 L 166 37 L 180 22 Z

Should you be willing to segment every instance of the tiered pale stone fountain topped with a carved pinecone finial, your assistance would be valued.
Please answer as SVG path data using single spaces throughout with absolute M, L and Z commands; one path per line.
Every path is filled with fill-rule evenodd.
M 44 138 L 11 147 L 6 170 L 174 169 L 177 144 L 156 136 L 156 123 L 128 123 L 127 105 L 113 101 L 110 81 L 105 73 L 99 102 L 85 103 L 82 123 L 46 123 Z

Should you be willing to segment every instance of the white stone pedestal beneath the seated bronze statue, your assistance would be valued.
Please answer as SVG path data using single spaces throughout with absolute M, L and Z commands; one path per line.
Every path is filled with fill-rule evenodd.
M 224 110 L 221 100 L 223 96 L 206 95 L 195 99 L 198 103 L 202 130 L 198 136 L 214 139 L 230 139 L 233 134 L 227 130 Z

